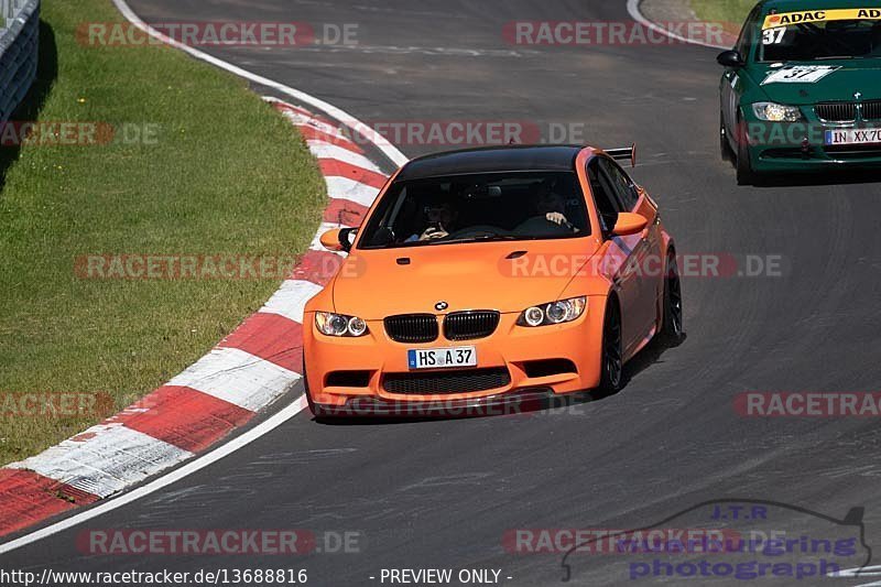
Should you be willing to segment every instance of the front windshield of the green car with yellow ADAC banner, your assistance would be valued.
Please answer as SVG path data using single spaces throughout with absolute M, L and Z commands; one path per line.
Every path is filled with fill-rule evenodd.
M 871 18 L 853 18 L 853 17 Z M 849 18 L 848 18 L 849 17 Z M 881 11 L 847 9 L 763 17 L 760 62 L 881 57 Z

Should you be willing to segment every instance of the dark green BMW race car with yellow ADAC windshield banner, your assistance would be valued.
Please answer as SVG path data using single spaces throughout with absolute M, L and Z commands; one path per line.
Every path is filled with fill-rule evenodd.
M 719 54 L 722 157 L 763 172 L 881 167 L 881 8 L 763 0 Z M 875 4 L 879 6 L 879 4 Z

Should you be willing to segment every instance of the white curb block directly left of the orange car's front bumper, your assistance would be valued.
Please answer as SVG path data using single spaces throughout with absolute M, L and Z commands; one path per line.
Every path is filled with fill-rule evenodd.
M 257 412 L 296 382 L 300 374 L 238 348 L 216 348 L 168 385 L 184 385 Z

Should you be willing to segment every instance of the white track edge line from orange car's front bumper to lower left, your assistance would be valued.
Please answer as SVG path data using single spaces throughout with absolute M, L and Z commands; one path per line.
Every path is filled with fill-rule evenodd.
M 98 518 L 107 512 L 113 511 L 119 509 L 123 506 L 128 506 L 132 501 L 137 501 L 145 496 L 151 493 L 155 493 L 160 489 L 163 489 L 172 483 L 184 479 L 194 472 L 197 472 L 205 467 L 214 465 L 221 458 L 231 455 L 236 450 L 243 448 L 251 444 L 252 442 L 257 441 L 261 436 L 269 434 L 273 430 L 278 428 L 300 412 L 307 407 L 306 404 L 306 396 L 301 395 L 296 401 L 294 401 L 291 405 L 285 406 L 279 413 L 269 417 L 265 422 L 262 422 L 254 426 L 253 428 L 249 430 L 241 436 L 232 438 L 226 444 L 222 444 L 194 460 L 191 460 L 186 465 L 182 466 L 178 469 L 175 469 L 166 475 L 163 475 L 159 479 L 154 479 L 149 483 L 141 486 L 137 489 L 129 491 L 128 493 L 123 493 L 115 499 L 109 501 L 104 501 L 94 508 L 89 508 L 88 510 L 84 510 L 77 514 L 72 515 L 70 518 L 66 518 L 59 522 L 55 522 L 52 525 L 47 525 L 46 528 L 42 528 L 30 534 L 25 534 L 20 539 L 15 539 L 13 541 L 7 542 L 4 544 L 0 544 L 0 554 L 6 554 L 10 551 L 14 551 L 15 548 L 21 548 L 28 544 L 36 542 L 39 540 L 52 536 L 53 534 L 57 534 L 58 532 L 64 532 L 70 528 L 75 528 L 84 522 Z

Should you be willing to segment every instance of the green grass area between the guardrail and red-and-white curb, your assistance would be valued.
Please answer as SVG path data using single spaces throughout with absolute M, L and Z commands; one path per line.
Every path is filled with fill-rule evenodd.
M 80 45 L 79 23 L 121 20 L 109 0 L 42 10 L 41 84 L 54 81 L 37 119 L 149 123 L 156 143 L 0 148 L 0 394 L 106 392 L 121 409 L 198 359 L 281 280 L 89 280 L 75 259 L 290 256 L 308 246 L 325 187 L 300 135 L 240 79 L 163 46 Z M 100 418 L 0 416 L 0 464 Z

